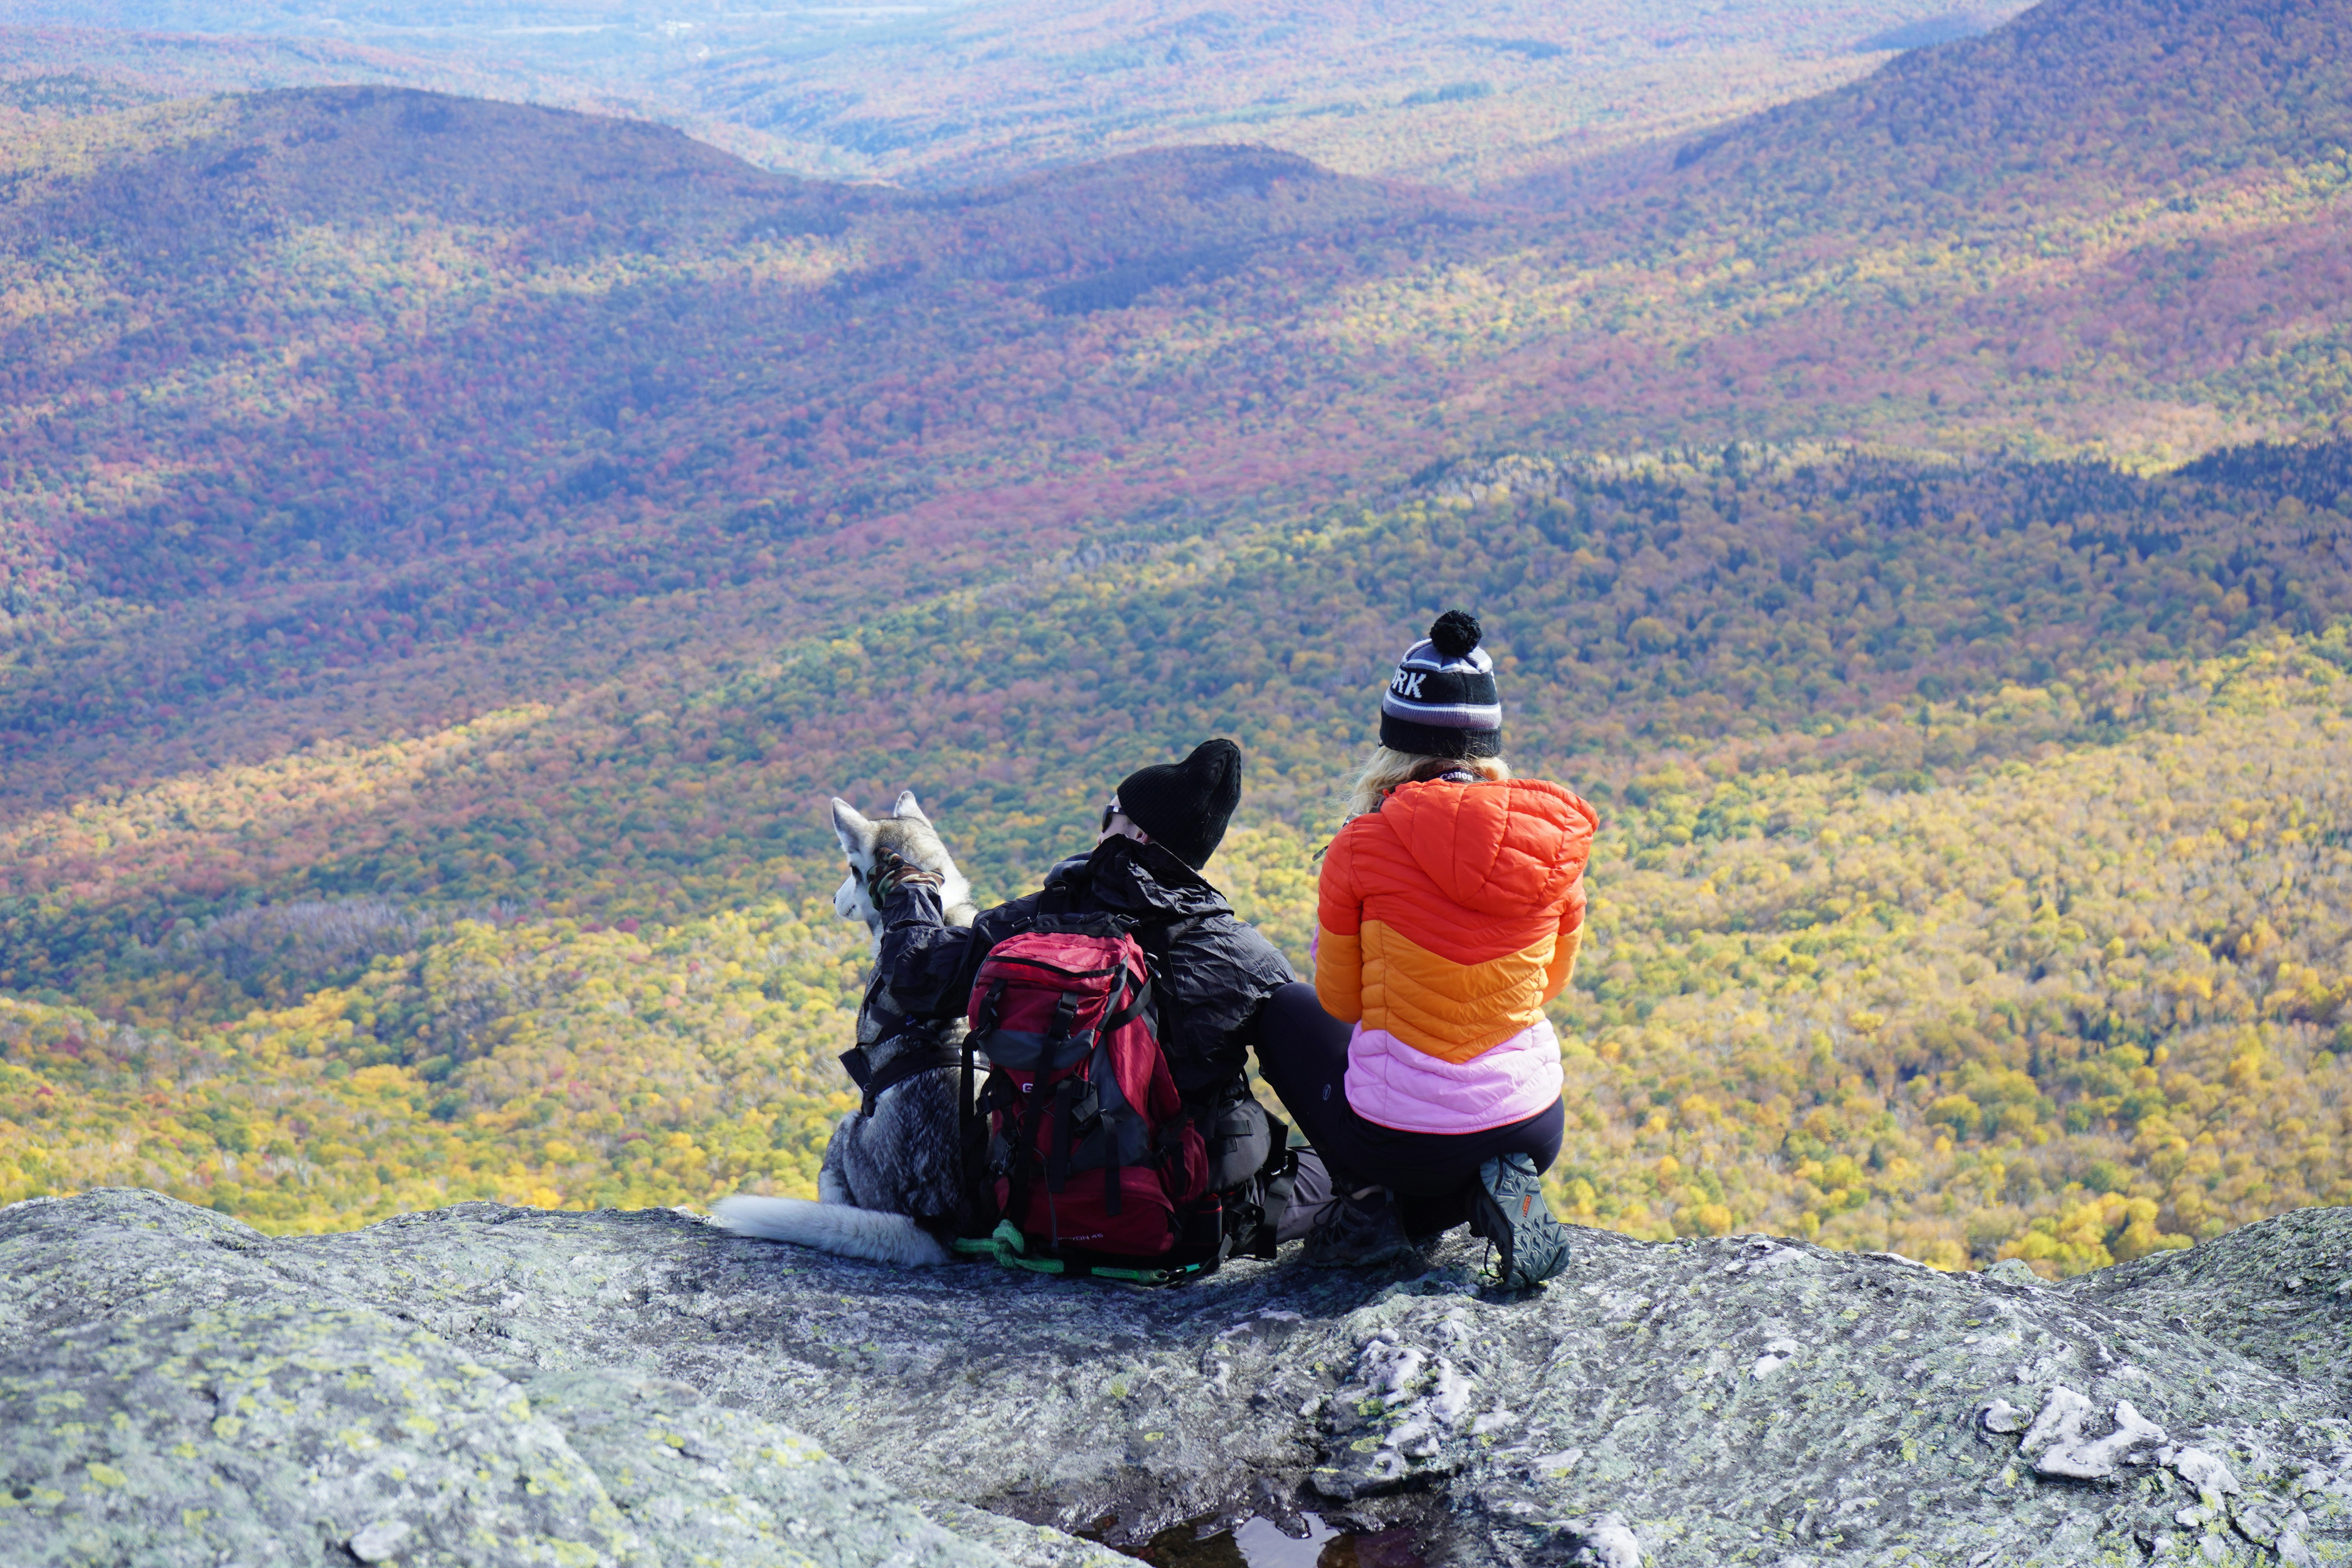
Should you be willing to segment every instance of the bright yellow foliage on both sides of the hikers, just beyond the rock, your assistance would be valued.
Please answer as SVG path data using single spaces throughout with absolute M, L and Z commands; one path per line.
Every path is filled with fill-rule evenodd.
M 2183 672 L 2194 701 L 2161 729 L 1931 790 L 1731 750 L 1604 799 L 1585 957 L 1552 1009 L 1559 1211 L 2070 1274 L 2352 1201 L 2343 639 L 2281 646 Z M 172 783 L 12 844 L 26 865 L 132 853 L 101 837 L 235 844 L 270 792 L 405 788 L 494 745 L 517 743 L 480 722 Z M 1310 825 L 1244 820 L 1209 867 L 1301 971 L 1341 776 L 1282 783 Z M 1007 832 L 1073 846 L 1033 816 Z M 136 1182 L 310 1229 L 461 1199 L 811 1194 L 854 1105 L 835 1056 L 866 933 L 823 896 L 717 903 L 602 926 L 287 900 L 92 964 L 73 994 L 0 997 L 0 1201 Z M 329 926 L 374 945 L 320 980 L 303 943 Z

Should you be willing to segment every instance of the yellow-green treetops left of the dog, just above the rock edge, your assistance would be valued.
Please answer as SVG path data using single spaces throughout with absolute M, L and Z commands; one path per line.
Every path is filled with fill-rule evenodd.
M 863 957 L 863 929 L 809 900 L 659 933 L 461 922 L 421 959 L 186 1037 L 0 997 L 0 1201 L 132 1182 L 329 1229 L 463 1199 L 814 1197 L 854 1103 L 833 1051 Z M 647 969 L 663 983 L 626 1001 Z M 426 1053 L 475 1048 L 459 1009 L 496 1044 Z M 386 1046 L 350 1016 L 421 1060 L 367 1060 Z

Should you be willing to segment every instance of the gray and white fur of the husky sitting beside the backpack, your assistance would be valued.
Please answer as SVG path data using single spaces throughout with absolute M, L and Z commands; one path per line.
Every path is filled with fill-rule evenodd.
M 866 922 L 875 950 L 882 947 L 882 910 L 868 884 L 887 853 L 941 875 L 938 903 L 950 926 L 969 926 L 978 914 L 971 884 L 955 870 L 955 858 L 913 790 L 882 818 L 866 818 L 849 802 L 835 799 L 833 832 L 849 856 L 849 877 L 833 896 L 833 907 L 842 919 Z M 880 978 L 866 987 L 858 1046 L 870 1072 L 908 1051 L 960 1044 L 962 1034 L 962 1023 L 910 1023 Z M 875 1095 L 873 1117 L 854 1110 L 833 1128 L 826 1164 L 816 1173 L 818 1201 L 727 1197 L 713 1204 L 713 1215 L 746 1237 L 797 1241 L 844 1258 L 903 1267 L 948 1262 L 948 1248 L 924 1222 L 953 1218 L 962 1197 L 957 1091 L 957 1067 L 929 1067 L 901 1079 Z

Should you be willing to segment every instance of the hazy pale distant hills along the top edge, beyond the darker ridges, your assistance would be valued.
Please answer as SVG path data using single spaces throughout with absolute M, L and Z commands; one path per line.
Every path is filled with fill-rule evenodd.
M 1708 129 L 1992 26 L 2018 0 L 1204 0 L 532 7 L 26 0 L 0 28 L 33 113 L 82 96 L 350 82 L 661 120 L 762 167 L 957 188 L 1110 153 L 1270 143 L 1367 176 L 1479 188 Z M 129 28 L 129 31 L 127 31 Z M 238 38 L 245 35 L 245 38 Z M 9 40 L 16 40 L 14 45 Z M 12 59 L 14 56 L 14 59 Z M 139 101 L 132 96 L 129 101 Z M 96 103 L 92 103 L 94 108 Z M 82 113 L 89 113 L 87 108 Z

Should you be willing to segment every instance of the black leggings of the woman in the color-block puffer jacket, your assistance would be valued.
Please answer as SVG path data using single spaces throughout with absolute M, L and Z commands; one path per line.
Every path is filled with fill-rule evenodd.
M 1406 1232 L 1425 1237 L 1468 1220 L 1468 1187 L 1498 1154 L 1526 1154 L 1536 1171 L 1559 1159 L 1566 1128 L 1559 1100 L 1484 1133 L 1406 1133 L 1364 1121 L 1348 1105 L 1348 1034 L 1345 1023 L 1322 1011 L 1312 985 L 1284 985 L 1258 1009 L 1258 1072 L 1324 1157 L 1334 1182 L 1341 1190 L 1378 1182 L 1395 1192 Z

